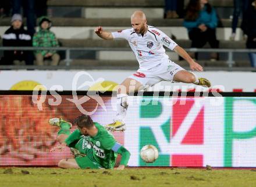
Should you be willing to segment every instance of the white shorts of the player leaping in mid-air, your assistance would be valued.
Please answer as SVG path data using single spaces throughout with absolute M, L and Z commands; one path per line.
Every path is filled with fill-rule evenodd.
M 141 71 L 138 69 L 138 71 L 129 76 L 129 78 L 137 80 L 144 86 L 154 86 L 162 80 L 173 81 L 175 74 L 182 70 L 185 69 L 168 60 L 159 63 L 156 67 L 147 71 Z

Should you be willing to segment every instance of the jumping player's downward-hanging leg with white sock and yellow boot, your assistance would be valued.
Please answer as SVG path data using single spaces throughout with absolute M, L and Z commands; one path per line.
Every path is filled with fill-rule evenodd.
M 106 125 L 106 129 L 110 131 L 114 130 L 126 130 L 125 118 L 128 108 L 128 93 L 133 93 L 144 88 L 143 83 L 136 80 L 136 78 L 126 78 L 119 86 L 116 96 L 116 118 L 111 124 Z

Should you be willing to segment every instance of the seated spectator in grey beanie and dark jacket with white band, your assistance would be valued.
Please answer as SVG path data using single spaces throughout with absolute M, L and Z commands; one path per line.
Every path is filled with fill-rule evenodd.
M 29 32 L 24 30 L 22 15 L 14 14 L 11 23 L 12 26 L 3 34 L 3 46 L 31 46 L 32 39 Z M 33 64 L 33 61 L 29 58 L 29 51 L 6 50 L 3 52 L 2 63 L 5 65 L 23 65 L 25 61 L 27 65 Z

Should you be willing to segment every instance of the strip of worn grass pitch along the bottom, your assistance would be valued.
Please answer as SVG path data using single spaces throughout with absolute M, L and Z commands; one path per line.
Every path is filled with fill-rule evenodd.
M 0 168 L 0 186 L 256 186 L 256 170 Z

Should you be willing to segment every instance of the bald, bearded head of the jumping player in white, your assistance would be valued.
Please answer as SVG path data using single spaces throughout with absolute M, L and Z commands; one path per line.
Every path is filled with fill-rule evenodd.
M 141 10 L 135 11 L 131 15 L 131 26 L 137 34 L 144 34 L 147 32 L 147 19 Z

